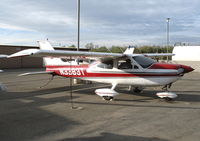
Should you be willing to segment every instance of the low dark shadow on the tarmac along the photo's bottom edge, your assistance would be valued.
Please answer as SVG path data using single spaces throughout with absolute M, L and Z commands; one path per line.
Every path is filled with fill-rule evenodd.
M 101 133 L 96 137 L 66 138 L 58 141 L 168 141 L 157 137 L 138 137 L 128 135 L 118 135 L 113 133 Z

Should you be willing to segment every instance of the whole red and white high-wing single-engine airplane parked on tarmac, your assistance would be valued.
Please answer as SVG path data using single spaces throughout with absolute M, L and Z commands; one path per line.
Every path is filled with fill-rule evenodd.
M 63 77 L 72 77 L 101 83 L 112 84 L 111 88 L 97 89 L 95 93 L 105 100 L 112 100 L 119 93 L 115 91 L 117 85 L 132 86 L 135 92 L 144 87 L 164 86 L 167 90 L 172 83 L 183 77 L 185 73 L 194 69 L 190 66 L 179 64 L 158 63 L 150 57 L 172 56 L 165 54 L 133 54 L 134 48 L 127 48 L 123 53 L 97 53 L 83 51 L 54 50 L 48 41 L 39 41 L 40 49 L 26 49 L 7 56 L 43 57 L 46 66 L 44 72 L 25 73 L 51 74 Z M 71 57 L 95 57 L 98 60 L 91 64 L 78 64 L 71 61 Z M 67 58 L 63 60 L 62 58 Z M 177 95 L 170 92 L 157 93 L 159 97 L 172 99 Z

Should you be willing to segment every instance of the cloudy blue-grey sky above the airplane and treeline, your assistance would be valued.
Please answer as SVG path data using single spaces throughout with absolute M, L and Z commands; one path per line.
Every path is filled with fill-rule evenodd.
M 77 44 L 77 0 L 0 0 L 0 44 Z M 80 45 L 200 44 L 199 0 L 81 0 Z

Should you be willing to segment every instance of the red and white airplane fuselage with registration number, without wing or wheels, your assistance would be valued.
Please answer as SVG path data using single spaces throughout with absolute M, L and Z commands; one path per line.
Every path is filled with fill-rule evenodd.
M 100 62 L 91 65 L 47 66 L 46 71 L 53 71 L 56 75 L 73 77 L 82 80 L 109 84 L 126 84 L 133 86 L 162 86 L 173 83 L 183 76 L 183 72 L 192 71 L 192 68 L 183 65 L 153 63 L 148 68 L 139 64 L 134 69 L 119 69 L 99 67 Z

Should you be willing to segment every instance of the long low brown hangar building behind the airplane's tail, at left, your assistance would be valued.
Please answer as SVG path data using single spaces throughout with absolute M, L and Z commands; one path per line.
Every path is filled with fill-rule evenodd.
M 0 45 L 0 54 L 10 55 L 24 49 L 39 49 L 37 46 L 12 46 Z M 77 50 L 76 48 L 55 47 L 56 50 Z M 80 51 L 89 51 L 89 49 L 81 48 Z M 19 57 L 19 58 L 3 58 L 0 59 L 0 69 L 12 68 L 41 68 L 43 67 L 43 59 L 37 57 Z

